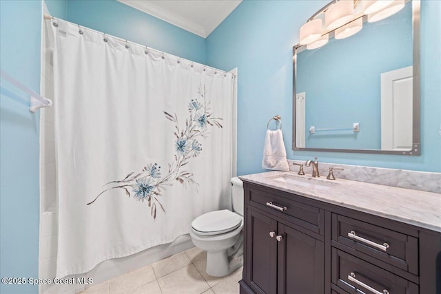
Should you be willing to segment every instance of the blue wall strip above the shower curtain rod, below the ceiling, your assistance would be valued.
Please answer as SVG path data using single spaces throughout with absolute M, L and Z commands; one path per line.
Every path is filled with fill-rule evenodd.
M 68 21 L 205 63 L 205 39 L 115 0 L 69 0 Z

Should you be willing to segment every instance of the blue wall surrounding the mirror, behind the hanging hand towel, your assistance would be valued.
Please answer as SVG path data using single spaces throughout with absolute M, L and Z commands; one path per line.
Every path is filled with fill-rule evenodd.
M 207 38 L 207 64 L 238 67 L 238 174 L 260 167 L 267 121 L 280 114 L 288 158 L 441 171 L 441 1 L 422 1 L 421 156 L 292 151 L 292 55 L 300 26 L 328 1 L 243 1 Z M 322 109 L 325 111 L 325 109 Z

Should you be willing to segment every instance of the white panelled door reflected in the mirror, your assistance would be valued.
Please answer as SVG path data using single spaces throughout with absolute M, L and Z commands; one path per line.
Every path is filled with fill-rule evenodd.
M 412 67 L 381 74 L 381 149 L 412 149 Z

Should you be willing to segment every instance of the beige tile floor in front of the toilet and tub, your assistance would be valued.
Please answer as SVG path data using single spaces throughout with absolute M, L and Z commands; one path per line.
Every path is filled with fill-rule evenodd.
M 242 267 L 226 277 L 205 273 L 207 254 L 193 247 L 125 275 L 92 286 L 82 294 L 238 294 Z

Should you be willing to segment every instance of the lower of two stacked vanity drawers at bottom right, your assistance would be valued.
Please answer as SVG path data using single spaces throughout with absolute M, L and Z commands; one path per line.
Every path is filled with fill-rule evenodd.
M 331 254 L 331 282 L 348 293 L 418 294 L 417 284 L 398 275 L 335 248 Z

